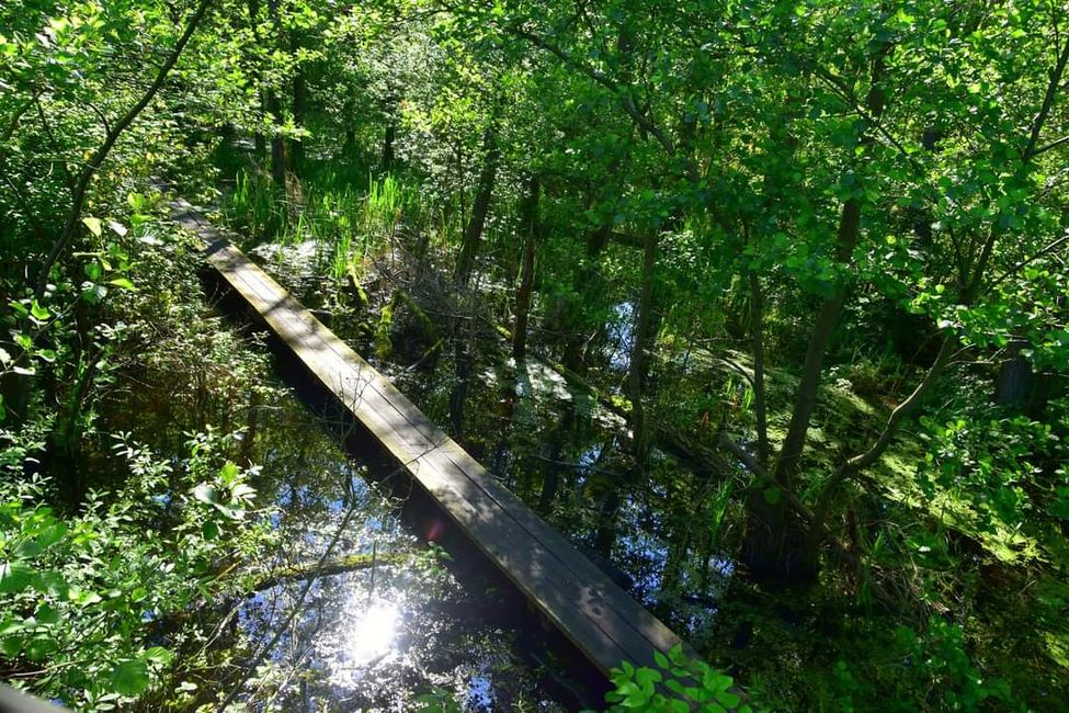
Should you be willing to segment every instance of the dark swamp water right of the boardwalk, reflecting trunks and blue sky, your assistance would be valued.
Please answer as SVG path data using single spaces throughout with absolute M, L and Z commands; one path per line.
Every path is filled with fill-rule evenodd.
M 338 286 L 320 276 L 321 260 L 309 258 L 307 248 L 298 252 L 271 246 L 260 262 L 315 308 Z M 390 278 L 383 275 L 390 268 L 373 272 L 372 302 L 376 292 L 389 301 Z M 454 314 L 457 307 L 447 301 L 423 301 L 442 331 L 437 353 L 429 359 L 431 344 L 417 333 L 418 320 L 403 305 L 395 306 L 386 354 L 366 313 L 328 304 L 316 314 L 666 624 L 693 643 L 713 635 L 717 600 L 735 571 L 719 548 L 723 512 L 713 512 L 727 500 L 723 490 L 730 478 L 726 485 L 656 448 L 636 464 L 626 418 L 611 403 L 621 389 L 595 393 L 564 376 L 538 356 L 547 348 L 539 335 L 532 335 L 531 355 L 516 364 L 507 341 L 478 316 Z M 600 353 L 619 383 L 629 364 L 634 318 L 625 301 L 612 307 L 604 325 Z

